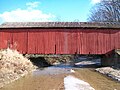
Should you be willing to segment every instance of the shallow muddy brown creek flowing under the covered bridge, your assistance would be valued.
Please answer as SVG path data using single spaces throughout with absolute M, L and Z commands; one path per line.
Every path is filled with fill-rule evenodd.
M 95 90 L 120 90 L 120 83 L 95 71 L 99 65 L 85 65 L 76 63 L 73 67 L 69 64 L 60 64 L 45 68 L 38 68 L 31 74 L 10 83 L 0 90 L 64 90 L 63 80 L 67 75 L 74 75 L 88 82 Z M 75 73 L 71 73 L 71 69 Z

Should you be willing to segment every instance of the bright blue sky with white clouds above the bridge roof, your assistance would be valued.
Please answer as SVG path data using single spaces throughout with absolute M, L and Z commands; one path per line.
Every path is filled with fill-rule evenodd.
M 3 22 L 86 22 L 101 0 L 0 0 Z

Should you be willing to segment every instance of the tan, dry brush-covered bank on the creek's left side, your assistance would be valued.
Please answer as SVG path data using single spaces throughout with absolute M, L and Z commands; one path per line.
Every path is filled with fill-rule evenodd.
M 30 60 L 16 50 L 0 50 L 0 88 L 34 69 Z

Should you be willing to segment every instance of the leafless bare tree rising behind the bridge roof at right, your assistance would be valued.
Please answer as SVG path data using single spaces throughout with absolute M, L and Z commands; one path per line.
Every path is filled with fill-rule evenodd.
M 91 22 L 120 22 L 120 0 L 102 0 L 91 10 Z

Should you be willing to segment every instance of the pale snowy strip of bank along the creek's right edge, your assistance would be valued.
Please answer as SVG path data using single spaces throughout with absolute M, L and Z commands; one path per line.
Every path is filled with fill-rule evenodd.
M 102 67 L 97 68 L 96 71 L 120 81 L 120 69 L 114 69 L 112 67 Z

